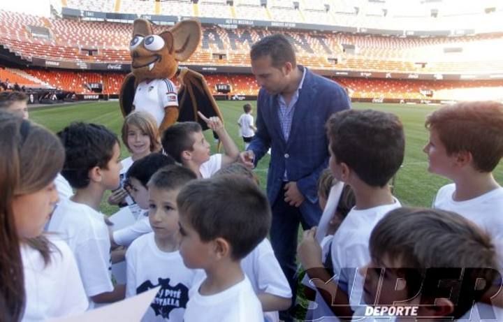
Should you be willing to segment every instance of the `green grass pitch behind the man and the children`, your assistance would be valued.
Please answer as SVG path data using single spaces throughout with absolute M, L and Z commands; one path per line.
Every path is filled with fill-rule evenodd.
M 217 102 L 224 115 L 226 129 L 240 149 L 243 149 L 242 139 L 238 136 L 238 117 L 242 114 L 244 101 L 219 101 Z M 256 102 L 249 102 L 256 105 Z M 405 159 L 402 168 L 395 178 L 395 196 L 403 205 L 423 206 L 431 205 L 435 193 L 440 186 L 448 180 L 428 173 L 428 161 L 423 153 L 423 146 L 428 142 L 428 131 L 424 127 L 424 120 L 428 113 L 437 106 L 428 105 L 400 105 L 400 104 L 372 104 L 353 103 L 353 108 L 372 108 L 386 112 L 393 112 L 404 124 L 406 135 Z M 256 111 L 254 111 L 254 114 Z M 30 118 L 39 124 L 43 124 L 52 131 L 59 131 L 73 121 L 94 122 L 107 126 L 120 136 L 122 115 L 119 112 L 117 101 L 76 103 L 60 107 L 36 108 L 30 110 Z M 205 133 L 208 142 L 214 150 L 212 133 Z M 128 156 L 124 145 L 122 157 Z M 256 173 L 260 177 L 261 185 L 265 188 L 266 174 L 269 164 L 269 156 L 266 155 L 256 167 Z M 495 170 L 498 182 L 503 182 L 503 166 L 500 164 Z M 112 214 L 117 207 L 112 207 L 106 202 L 101 204 L 105 214 Z

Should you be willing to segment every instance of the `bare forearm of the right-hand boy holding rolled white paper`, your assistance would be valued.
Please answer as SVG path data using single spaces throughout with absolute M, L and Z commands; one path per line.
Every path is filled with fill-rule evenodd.
M 300 242 L 297 249 L 300 262 L 323 300 L 332 309 L 333 314 L 339 317 L 351 318 L 353 311 L 349 305 L 349 297 L 333 281 L 333 277 L 324 267 L 321 261 L 321 247 L 314 237 L 315 234 L 316 227 L 304 231 L 302 242 Z

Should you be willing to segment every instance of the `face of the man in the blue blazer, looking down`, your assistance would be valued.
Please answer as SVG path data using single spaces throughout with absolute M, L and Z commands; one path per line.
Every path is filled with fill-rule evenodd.
M 289 83 L 289 71 L 286 66 L 276 68 L 272 66 L 270 56 L 259 57 L 251 61 L 251 73 L 255 75 L 258 86 L 263 87 L 268 94 L 281 94 Z

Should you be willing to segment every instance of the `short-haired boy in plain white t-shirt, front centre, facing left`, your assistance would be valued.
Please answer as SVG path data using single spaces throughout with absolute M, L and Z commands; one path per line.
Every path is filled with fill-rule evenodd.
M 187 184 L 177 207 L 184 264 L 206 273 L 189 293 L 184 321 L 263 322 L 240 262 L 268 235 L 267 197 L 247 178 L 222 175 Z

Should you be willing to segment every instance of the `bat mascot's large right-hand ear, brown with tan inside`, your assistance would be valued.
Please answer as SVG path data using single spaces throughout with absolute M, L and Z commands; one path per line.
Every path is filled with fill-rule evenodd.
M 196 20 L 184 20 L 175 24 L 169 31 L 173 34 L 175 59 L 189 59 L 201 41 L 201 24 Z

